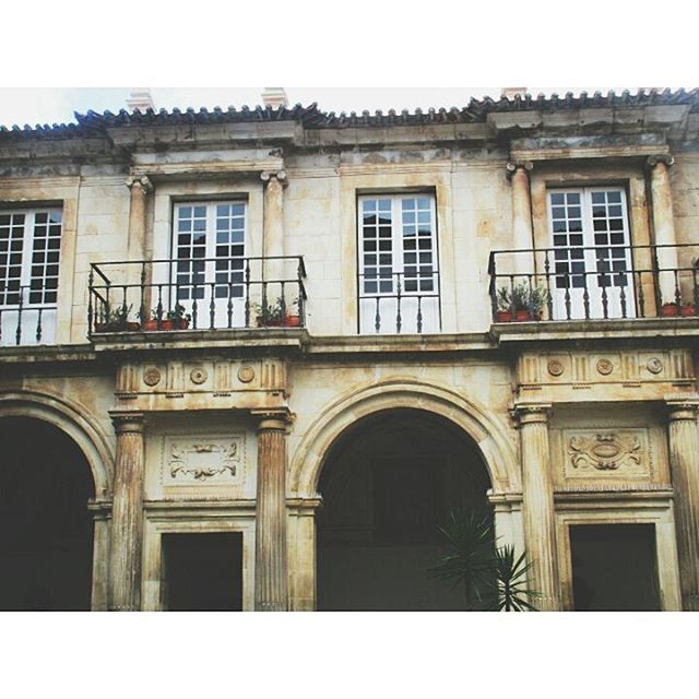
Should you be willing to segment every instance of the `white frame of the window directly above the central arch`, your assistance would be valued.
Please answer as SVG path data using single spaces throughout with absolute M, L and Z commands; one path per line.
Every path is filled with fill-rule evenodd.
M 429 200 L 429 226 L 430 234 L 428 239 L 430 241 L 430 247 L 428 252 L 430 253 L 431 260 L 430 262 L 420 262 L 420 250 L 419 250 L 419 235 L 416 230 L 415 234 L 415 250 L 406 250 L 404 247 L 404 240 L 406 236 L 404 234 L 404 228 L 412 224 L 404 223 L 403 221 L 403 201 L 412 200 L 412 199 L 420 199 L 426 198 Z M 389 252 L 381 251 L 379 249 L 381 238 L 377 236 L 377 250 L 368 251 L 365 249 L 365 236 L 364 236 L 364 203 L 367 201 L 381 201 L 389 200 L 390 201 L 390 212 L 391 212 L 391 276 L 390 283 L 389 277 L 380 276 L 381 266 L 386 266 L 386 264 L 380 264 L 380 256 L 389 254 Z M 417 209 L 416 213 L 419 215 L 419 209 Z M 411 212 L 406 212 L 411 213 Z M 417 220 L 414 224 L 417 228 Z M 440 332 L 441 330 L 441 291 L 440 291 L 440 280 L 439 280 L 439 235 L 437 229 L 437 199 L 434 192 L 431 191 L 416 191 L 416 192 L 379 192 L 372 194 L 359 194 L 357 197 L 357 296 L 358 296 L 358 305 L 359 305 L 359 317 L 358 317 L 358 332 L 359 333 L 376 333 L 375 327 L 375 316 L 376 316 L 376 299 L 379 298 L 379 307 L 381 316 L 384 316 L 384 321 L 381 322 L 380 333 L 394 333 L 398 332 L 395 315 L 398 311 L 398 301 L 395 298 L 398 292 L 396 281 L 400 279 L 402 284 L 401 288 L 401 332 L 411 333 L 416 332 L 416 323 L 413 321 L 413 317 L 417 315 L 417 297 L 423 297 L 426 301 L 426 305 L 422 305 L 420 301 L 420 311 L 423 313 L 423 329 L 422 332 Z M 415 262 L 405 262 L 406 254 L 411 252 L 415 253 Z M 427 252 L 425 250 L 424 252 Z M 376 264 L 367 265 L 365 256 L 366 254 L 376 254 Z M 376 291 L 367 291 L 367 284 L 371 283 L 370 279 L 366 277 L 366 269 L 367 266 L 377 269 L 377 279 L 376 279 Z M 405 270 L 410 268 L 416 268 L 414 275 L 411 275 L 407 280 L 405 279 Z M 422 273 L 420 268 L 429 266 L 431 272 L 426 275 Z M 431 281 L 431 289 L 423 288 L 423 283 L 425 280 Z M 406 288 L 406 281 L 415 284 L 415 288 Z M 387 288 L 390 287 L 390 288 Z M 382 300 L 386 299 L 386 300 Z M 392 303 L 391 303 L 392 299 Z M 415 327 L 414 327 L 415 325 Z

